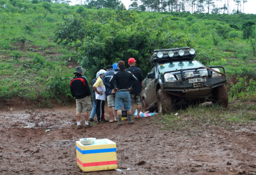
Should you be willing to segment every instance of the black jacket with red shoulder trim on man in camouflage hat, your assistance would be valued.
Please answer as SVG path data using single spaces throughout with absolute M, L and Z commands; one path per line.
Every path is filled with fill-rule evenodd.
M 86 78 L 78 73 L 70 80 L 70 91 L 72 96 L 76 99 L 81 99 L 91 95 Z

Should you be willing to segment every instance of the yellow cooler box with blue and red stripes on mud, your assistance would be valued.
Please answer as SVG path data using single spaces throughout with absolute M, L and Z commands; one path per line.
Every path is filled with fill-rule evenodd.
M 75 142 L 77 165 L 83 172 L 117 169 L 116 143 L 97 139 L 94 144 Z

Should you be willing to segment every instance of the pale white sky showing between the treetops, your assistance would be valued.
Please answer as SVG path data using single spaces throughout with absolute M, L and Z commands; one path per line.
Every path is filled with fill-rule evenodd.
M 79 4 L 79 0 L 70 0 L 70 1 L 71 1 L 70 5 Z M 84 3 L 84 0 L 82 0 L 82 1 Z M 129 8 L 129 5 L 131 4 L 130 0 L 120 0 L 120 1 L 125 5 L 126 9 Z M 223 4 L 224 4 L 224 0 L 223 0 Z M 221 4 L 221 5 L 223 5 L 223 4 Z M 234 5 L 234 2 L 232 2 L 232 4 L 231 4 L 232 9 L 233 9 L 233 5 Z M 242 4 L 242 10 L 243 10 L 243 4 Z M 205 11 L 205 12 L 207 12 L 207 11 Z M 256 14 L 256 0 L 247 0 L 247 2 L 244 5 L 244 13 Z

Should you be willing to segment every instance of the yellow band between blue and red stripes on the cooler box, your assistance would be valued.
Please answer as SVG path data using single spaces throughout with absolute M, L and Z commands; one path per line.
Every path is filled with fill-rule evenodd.
M 105 161 L 117 160 L 116 152 L 81 154 L 78 150 L 76 150 L 76 157 L 83 163 L 105 162 Z

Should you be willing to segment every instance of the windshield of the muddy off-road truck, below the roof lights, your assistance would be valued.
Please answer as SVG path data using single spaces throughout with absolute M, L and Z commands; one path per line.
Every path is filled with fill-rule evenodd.
M 167 71 L 180 70 L 180 69 L 190 69 L 203 66 L 197 61 L 174 61 L 171 63 L 163 63 L 158 65 L 158 70 L 160 74 Z

